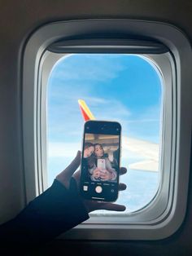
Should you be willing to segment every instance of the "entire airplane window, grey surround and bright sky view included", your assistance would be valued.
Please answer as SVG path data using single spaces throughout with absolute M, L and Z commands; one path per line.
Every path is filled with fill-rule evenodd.
M 191 46 L 181 30 L 145 20 L 72 20 L 42 26 L 24 47 L 26 201 L 81 149 L 82 99 L 96 119 L 122 126 L 127 190 L 117 202 L 127 208 L 95 211 L 64 237 L 158 240 L 176 232 L 185 218 L 191 135 Z

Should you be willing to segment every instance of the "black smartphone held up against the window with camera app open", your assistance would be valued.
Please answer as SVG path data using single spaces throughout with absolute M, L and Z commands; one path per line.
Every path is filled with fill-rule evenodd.
M 86 121 L 81 157 L 81 196 L 116 201 L 120 176 L 121 126 L 117 121 Z

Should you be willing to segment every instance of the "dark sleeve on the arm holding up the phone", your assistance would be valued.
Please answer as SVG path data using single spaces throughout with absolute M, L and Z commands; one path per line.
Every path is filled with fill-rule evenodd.
M 72 179 L 69 189 L 55 179 L 11 221 L 0 226 L 1 247 L 34 249 L 82 223 L 89 215 Z

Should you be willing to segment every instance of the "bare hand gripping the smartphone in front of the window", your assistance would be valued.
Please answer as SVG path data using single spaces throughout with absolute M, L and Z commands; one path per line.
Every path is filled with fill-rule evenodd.
M 57 175 L 56 179 L 59 180 L 60 183 L 63 183 L 65 188 L 69 188 L 70 180 L 72 177 L 76 180 L 77 187 L 79 188 L 80 170 L 76 171 L 76 169 L 80 166 L 80 162 L 81 162 L 81 152 L 78 151 L 72 163 L 65 170 L 63 170 L 60 174 Z M 126 168 L 124 167 L 120 168 L 120 174 L 125 174 L 126 172 L 127 172 Z M 120 183 L 119 190 L 122 191 L 125 189 L 126 189 L 126 185 L 124 183 Z M 81 200 L 83 201 L 88 213 L 94 210 L 124 211 L 126 209 L 124 205 L 117 205 L 114 203 L 107 203 L 107 202 L 101 202 L 101 201 L 85 200 L 83 198 Z

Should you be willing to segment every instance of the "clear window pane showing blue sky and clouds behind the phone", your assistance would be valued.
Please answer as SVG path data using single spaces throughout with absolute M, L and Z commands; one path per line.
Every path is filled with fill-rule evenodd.
M 159 188 L 162 79 L 142 55 L 73 54 L 61 58 L 48 81 L 49 186 L 81 150 L 84 120 L 78 99 L 84 99 L 98 120 L 122 126 L 120 178 L 127 190 L 117 203 L 133 212 L 148 205 Z

